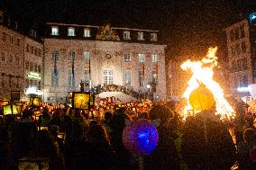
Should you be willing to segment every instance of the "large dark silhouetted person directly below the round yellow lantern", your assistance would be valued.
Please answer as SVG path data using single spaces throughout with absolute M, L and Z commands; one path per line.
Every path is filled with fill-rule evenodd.
M 215 116 L 215 104 L 187 118 L 182 132 L 181 154 L 190 170 L 230 170 L 234 165 L 236 148 L 224 122 Z

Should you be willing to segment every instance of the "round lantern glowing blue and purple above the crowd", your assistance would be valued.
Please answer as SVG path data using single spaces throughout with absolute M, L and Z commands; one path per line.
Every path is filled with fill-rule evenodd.
M 123 130 L 123 145 L 134 154 L 149 155 L 158 142 L 158 131 L 148 120 L 133 121 Z

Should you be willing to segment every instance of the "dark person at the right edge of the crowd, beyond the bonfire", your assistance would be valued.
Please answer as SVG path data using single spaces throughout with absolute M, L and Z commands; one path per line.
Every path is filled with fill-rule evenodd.
M 250 151 L 256 146 L 256 130 L 248 128 L 243 132 L 243 141 L 238 144 L 238 162 L 241 170 L 252 170 Z

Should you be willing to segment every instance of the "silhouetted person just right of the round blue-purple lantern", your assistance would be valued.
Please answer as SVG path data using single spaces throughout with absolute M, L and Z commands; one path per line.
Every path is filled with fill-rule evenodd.
M 174 113 L 167 106 L 159 105 L 151 109 L 149 117 L 157 126 L 159 144 L 150 155 L 144 157 L 144 168 L 178 170 L 178 151 L 174 144 L 177 135 L 170 123 L 174 118 Z

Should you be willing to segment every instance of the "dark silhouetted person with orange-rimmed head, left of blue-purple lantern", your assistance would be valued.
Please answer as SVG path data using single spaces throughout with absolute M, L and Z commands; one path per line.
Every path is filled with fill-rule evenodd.
M 87 131 L 87 141 L 75 149 L 74 169 L 114 169 L 114 151 L 104 126 L 92 125 Z

